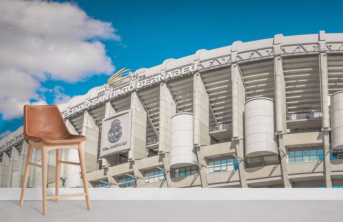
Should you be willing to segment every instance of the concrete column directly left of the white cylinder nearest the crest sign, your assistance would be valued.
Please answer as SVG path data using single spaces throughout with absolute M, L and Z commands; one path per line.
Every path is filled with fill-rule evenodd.
M 159 144 L 158 153 L 170 151 L 170 118 L 176 114 L 176 103 L 165 82 L 159 89 Z

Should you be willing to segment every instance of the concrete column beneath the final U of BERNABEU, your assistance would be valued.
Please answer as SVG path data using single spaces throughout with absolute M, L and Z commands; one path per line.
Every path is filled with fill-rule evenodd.
M 209 95 L 206 92 L 200 73 L 193 77 L 193 143 L 210 145 L 209 135 Z

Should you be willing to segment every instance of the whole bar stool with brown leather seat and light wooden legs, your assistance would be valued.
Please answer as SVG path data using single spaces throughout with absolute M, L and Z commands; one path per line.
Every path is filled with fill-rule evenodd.
M 83 135 L 71 134 L 66 123 L 63 120 L 60 110 L 56 105 L 45 106 L 24 106 L 24 139 L 28 140 L 28 150 L 25 163 L 24 180 L 20 196 L 20 205 L 23 205 L 24 195 L 30 166 L 42 168 L 42 190 L 43 190 L 43 215 L 46 215 L 46 200 L 64 197 L 85 196 L 87 209 L 91 210 L 91 204 L 88 194 L 88 183 L 86 176 L 86 167 L 83 157 L 82 141 L 87 138 Z M 37 148 L 42 151 L 42 165 L 34 164 L 31 161 L 32 149 Z M 61 161 L 61 148 L 78 149 L 80 163 Z M 49 150 L 56 149 L 56 188 L 55 196 L 47 196 L 47 159 Z M 84 193 L 59 195 L 60 166 L 63 164 L 72 164 L 81 167 Z

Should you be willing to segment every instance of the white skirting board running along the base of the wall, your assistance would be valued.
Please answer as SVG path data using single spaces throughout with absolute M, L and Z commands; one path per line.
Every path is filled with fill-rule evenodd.
M 59 195 L 84 193 L 60 188 Z M 21 188 L 0 188 L 0 200 L 20 200 Z M 47 188 L 54 196 L 55 188 Z M 89 188 L 91 200 L 343 200 L 343 188 Z M 84 196 L 63 198 L 84 200 Z M 42 200 L 42 188 L 26 188 L 24 200 Z

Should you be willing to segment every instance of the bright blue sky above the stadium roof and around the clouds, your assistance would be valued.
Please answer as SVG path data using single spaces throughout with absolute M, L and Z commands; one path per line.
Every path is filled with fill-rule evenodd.
M 289 36 L 317 34 L 319 30 L 343 31 L 342 1 L 80 0 L 73 3 L 88 16 L 110 22 L 117 29 L 120 41 L 98 39 L 117 70 L 150 68 L 168 58 L 224 47 L 237 40 L 273 38 L 280 33 Z M 48 75 L 39 82 L 50 91 L 37 91 L 47 104 L 53 104 L 54 87 L 60 86 L 64 89 L 60 90 L 62 93 L 73 97 L 106 83 L 108 75 L 89 74 L 76 82 L 51 80 Z M 0 134 L 23 125 L 23 118 L 4 120 L 3 114 L 0 118 Z

